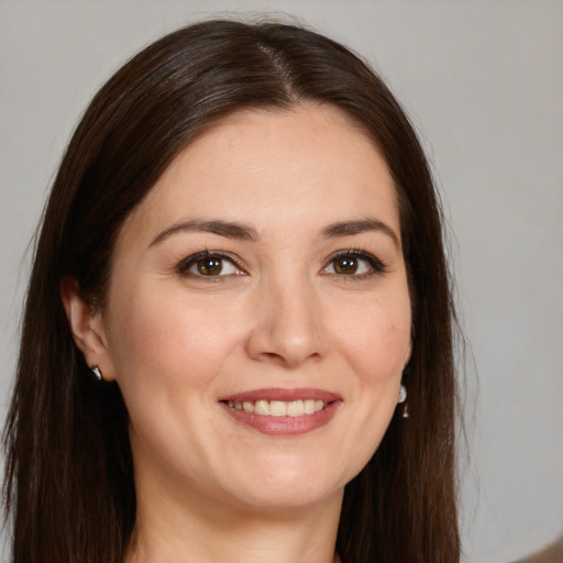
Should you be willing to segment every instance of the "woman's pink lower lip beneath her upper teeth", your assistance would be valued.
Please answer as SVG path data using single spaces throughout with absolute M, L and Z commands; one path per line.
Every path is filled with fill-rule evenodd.
M 329 423 L 336 413 L 341 402 L 341 400 L 329 402 L 322 410 L 300 417 L 268 417 L 267 415 L 256 415 L 255 412 L 239 410 L 229 407 L 224 402 L 220 405 L 236 421 L 254 428 L 263 434 L 300 435 Z

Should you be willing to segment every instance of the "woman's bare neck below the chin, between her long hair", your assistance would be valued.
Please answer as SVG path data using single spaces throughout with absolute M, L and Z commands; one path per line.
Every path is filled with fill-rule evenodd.
M 162 492 L 161 492 L 162 493 Z M 126 563 L 335 563 L 342 490 L 310 507 L 252 510 L 143 499 Z M 195 509 L 194 507 L 200 507 Z M 205 507 L 201 509 L 201 507 Z

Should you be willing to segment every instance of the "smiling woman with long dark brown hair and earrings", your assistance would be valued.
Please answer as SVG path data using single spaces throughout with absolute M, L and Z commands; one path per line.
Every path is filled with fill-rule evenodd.
M 135 56 L 36 243 L 12 561 L 459 561 L 440 217 L 341 45 L 211 21 Z

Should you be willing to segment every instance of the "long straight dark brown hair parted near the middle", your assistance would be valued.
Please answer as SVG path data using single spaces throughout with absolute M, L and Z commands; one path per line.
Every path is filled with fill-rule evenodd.
M 146 47 L 98 92 L 62 162 L 36 239 L 4 431 L 12 561 L 121 563 L 135 523 L 128 415 L 98 384 L 62 306 L 64 276 L 102 306 L 123 220 L 178 152 L 242 108 L 346 112 L 394 177 L 413 303 L 397 412 L 345 489 L 344 563 L 457 563 L 453 319 L 441 210 L 423 152 L 380 78 L 342 45 L 279 23 L 209 21 Z

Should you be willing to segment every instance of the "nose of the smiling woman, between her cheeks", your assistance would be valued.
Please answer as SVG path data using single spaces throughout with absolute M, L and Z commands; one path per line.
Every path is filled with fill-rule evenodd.
M 322 308 L 311 284 L 263 284 L 255 299 L 246 341 L 251 357 L 295 368 L 324 355 Z

